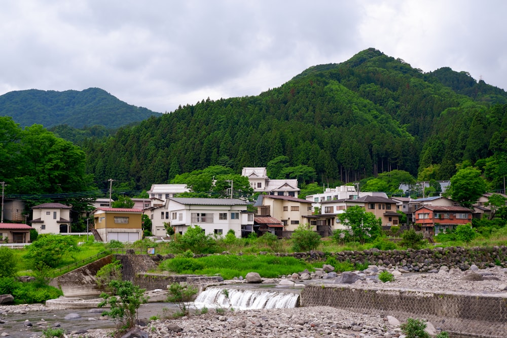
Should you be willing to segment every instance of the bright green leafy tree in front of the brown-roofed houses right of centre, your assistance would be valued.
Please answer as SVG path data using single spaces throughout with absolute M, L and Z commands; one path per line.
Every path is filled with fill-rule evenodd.
M 352 232 L 352 239 L 356 242 L 374 241 L 382 231 L 382 220 L 357 205 L 347 208 L 345 212 L 338 215 L 338 219 Z

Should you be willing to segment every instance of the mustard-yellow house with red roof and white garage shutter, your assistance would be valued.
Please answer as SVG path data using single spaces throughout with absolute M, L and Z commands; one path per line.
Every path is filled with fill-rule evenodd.
M 142 210 L 97 208 L 93 212 L 95 231 L 103 242 L 135 242 L 142 239 Z

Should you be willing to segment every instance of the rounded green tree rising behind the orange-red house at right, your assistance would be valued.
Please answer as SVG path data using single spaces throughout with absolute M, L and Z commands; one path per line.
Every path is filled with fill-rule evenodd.
M 486 181 L 481 171 L 472 167 L 458 170 L 451 177 L 451 185 L 446 194 L 466 208 L 472 207 L 479 197 L 486 192 Z

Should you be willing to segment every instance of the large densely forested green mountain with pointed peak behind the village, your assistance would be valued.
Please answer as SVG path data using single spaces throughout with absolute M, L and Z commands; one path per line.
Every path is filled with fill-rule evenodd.
M 210 165 L 239 172 L 286 156 L 330 184 L 393 169 L 449 179 L 457 164 L 485 166 L 507 152 L 507 109 L 496 105 L 507 93 L 480 84 L 474 98 L 465 95 L 473 84 L 453 89 L 440 80 L 443 73 L 455 75 L 423 73 L 368 49 L 310 67 L 258 96 L 202 100 L 113 137 L 86 139 L 87 171 L 142 190 Z

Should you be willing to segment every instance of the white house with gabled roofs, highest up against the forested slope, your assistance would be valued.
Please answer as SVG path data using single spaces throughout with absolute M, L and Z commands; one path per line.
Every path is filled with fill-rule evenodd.
M 297 179 L 270 179 L 265 167 L 244 167 L 241 176 L 248 178 L 255 193 L 298 197 L 300 191 Z

